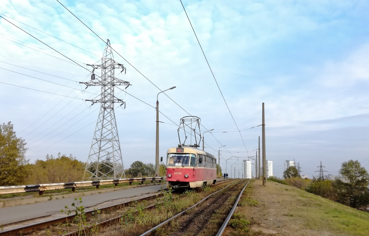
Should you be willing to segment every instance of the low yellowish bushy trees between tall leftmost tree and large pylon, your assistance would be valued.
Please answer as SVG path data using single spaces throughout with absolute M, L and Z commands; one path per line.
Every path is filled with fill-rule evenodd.
M 72 154 L 66 156 L 58 153 L 58 157 L 47 155 L 46 160 L 36 160 L 28 164 L 30 175 L 27 184 L 68 183 L 82 181 L 85 163 L 80 162 Z

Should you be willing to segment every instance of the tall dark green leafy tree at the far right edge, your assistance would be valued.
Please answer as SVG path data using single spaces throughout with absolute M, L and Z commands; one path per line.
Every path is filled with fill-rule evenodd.
M 362 193 L 367 191 L 369 174 L 368 171 L 356 160 L 349 160 L 348 162 L 342 163 L 341 170 L 339 173 L 342 174 L 348 181 L 347 183 L 339 183 L 341 192 L 345 193 L 346 196 L 350 196 L 349 205 L 354 208 L 363 206 Z M 347 204 L 347 197 L 346 197 Z

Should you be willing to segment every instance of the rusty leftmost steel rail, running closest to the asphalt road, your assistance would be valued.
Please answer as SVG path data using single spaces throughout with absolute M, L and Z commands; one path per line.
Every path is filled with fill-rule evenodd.
M 102 208 L 96 209 L 96 210 L 108 210 L 108 209 L 114 209 L 117 208 L 119 206 L 127 206 L 129 204 L 131 204 L 132 202 L 138 201 L 138 202 L 142 202 L 145 200 L 151 200 L 154 198 L 159 197 L 159 195 L 161 195 L 162 193 L 159 194 L 153 194 L 147 197 L 143 197 L 143 198 L 138 198 L 135 200 L 131 200 L 131 201 L 127 201 L 127 202 L 122 202 L 122 203 L 118 203 L 118 204 L 114 204 L 114 205 L 110 205 L 110 206 L 104 206 Z M 95 212 L 95 209 L 93 210 L 88 210 L 85 213 L 90 215 L 92 212 Z M 14 229 L 8 229 L 8 230 L 4 230 L 4 231 L 0 231 L 0 235 L 9 235 L 9 236 L 16 236 L 16 235 L 20 235 L 20 233 L 31 233 L 34 232 L 37 229 L 41 229 L 50 225 L 54 225 L 57 223 L 63 223 L 63 222 L 71 222 L 73 221 L 75 214 L 70 214 L 68 216 L 63 216 L 63 217 L 58 217 L 58 218 L 54 218 L 54 219 L 49 219 L 46 221 L 42 221 L 42 222 L 38 222 L 38 223 L 33 223 L 30 225 L 25 225 L 25 226 L 20 226 Z M 14 222 L 17 223 L 17 222 Z M 12 223 L 12 224 L 14 224 Z

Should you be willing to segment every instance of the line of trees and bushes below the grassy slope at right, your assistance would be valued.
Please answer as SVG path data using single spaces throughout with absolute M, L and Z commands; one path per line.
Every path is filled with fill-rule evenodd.
M 342 163 L 339 174 L 344 177 L 343 181 L 316 177 L 313 180 L 302 179 L 296 167 L 290 166 L 283 172 L 284 180 L 275 177 L 269 177 L 269 180 L 298 187 L 352 208 L 366 210 L 369 205 L 368 171 L 357 160 L 349 160 Z

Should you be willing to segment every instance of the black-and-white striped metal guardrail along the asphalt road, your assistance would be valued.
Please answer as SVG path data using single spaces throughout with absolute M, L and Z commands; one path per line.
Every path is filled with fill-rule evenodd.
M 95 180 L 95 181 L 81 181 L 72 183 L 1 186 L 0 195 L 23 193 L 23 192 L 39 192 L 39 195 L 43 195 L 44 191 L 68 189 L 68 188 L 72 188 L 72 191 L 75 192 L 76 188 L 81 187 L 96 186 L 96 188 L 98 189 L 100 185 L 114 184 L 115 186 L 117 186 L 118 184 L 123 183 L 129 183 L 130 185 L 132 185 L 132 183 L 134 182 L 141 182 L 141 184 L 143 184 L 144 181 L 151 181 L 152 183 L 155 180 L 159 180 L 159 182 L 161 182 L 162 180 L 166 180 L 166 177 L 123 178 L 118 180 Z

